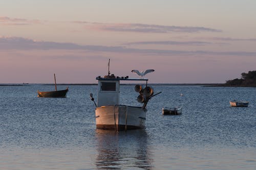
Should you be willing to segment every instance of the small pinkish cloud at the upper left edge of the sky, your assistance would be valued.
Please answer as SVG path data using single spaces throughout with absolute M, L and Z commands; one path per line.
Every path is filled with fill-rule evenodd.
M 33 19 L 24 19 L 24 18 L 10 18 L 7 16 L 0 16 L 0 24 L 3 25 L 31 25 L 35 23 L 41 23 L 42 21 Z

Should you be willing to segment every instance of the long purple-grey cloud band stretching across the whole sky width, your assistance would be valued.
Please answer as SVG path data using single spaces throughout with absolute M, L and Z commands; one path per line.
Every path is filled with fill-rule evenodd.
M 213 52 L 213 51 L 180 51 L 180 50 L 157 50 L 126 48 L 124 46 L 102 46 L 102 45 L 78 45 L 75 43 L 60 43 L 49 41 L 35 41 L 23 37 L 0 37 L 0 50 L 86 50 L 93 52 L 111 53 L 138 53 L 143 55 L 223 55 L 223 56 L 252 56 L 256 57 L 256 52 Z

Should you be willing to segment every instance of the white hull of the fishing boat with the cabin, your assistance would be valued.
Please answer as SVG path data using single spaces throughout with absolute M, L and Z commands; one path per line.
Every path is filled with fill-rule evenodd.
M 146 111 L 141 107 L 125 105 L 97 107 L 96 128 L 117 131 L 144 128 Z

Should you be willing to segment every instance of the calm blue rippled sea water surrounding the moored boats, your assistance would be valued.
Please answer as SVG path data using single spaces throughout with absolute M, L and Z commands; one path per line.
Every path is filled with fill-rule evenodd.
M 256 168 L 256 88 L 153 87 L 146 128 L 115 132 L 95 128 L 97 86 L 69 86 L 66 99 L 37 98 L 53 86 L 0 86 L 0 169 Z M 137 95 L 121 86 L 121 104 L 139 106 Z M 162 115 L 178 105 L 182 115 Z

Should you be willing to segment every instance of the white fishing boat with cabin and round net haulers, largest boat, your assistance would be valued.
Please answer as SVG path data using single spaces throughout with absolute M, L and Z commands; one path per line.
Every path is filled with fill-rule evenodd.
M 110 71 L 108 76 L 104 76 L 104 78 L 98 76 L 96 80 L 98 80 L 97 104 L 92 93 L 90 94 L 96 106 L 96 128 L 116 131 L 144 128 L 147 102 L 161 92 L 154 94 L 153 88 L 147 86 L 148 79 L 129 79 L 128 76 L 116 77 L 113 74 L 110 75 Z M 143 106 L 119 104 L 120 81 L 144 81 L 146 83 L 145 88 L 141 85 L 135 86 L 135 90 L 139 92 L 137 101 L 143 103 Z

